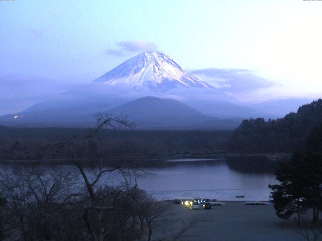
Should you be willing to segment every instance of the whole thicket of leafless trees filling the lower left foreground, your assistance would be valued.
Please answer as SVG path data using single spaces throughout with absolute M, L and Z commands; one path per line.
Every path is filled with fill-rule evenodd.
M 57 157 L 68 154 L 73 169 L 22 166 L 0 177 L 0 228 L 6 209 L 14 240 L 140 240 L 144 225 L 150 240 L 165 220 L 168 206 L 137 187 L 147 173 L 135 162 L 110 160 L 97 148 L 101 129 L 132 124 L 104 113 L 97 118 L 97 128 L 85 138 L 56 145 Z

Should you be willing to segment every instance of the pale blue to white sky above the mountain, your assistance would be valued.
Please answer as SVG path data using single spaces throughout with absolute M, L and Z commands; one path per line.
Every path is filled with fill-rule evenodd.
M 0 1 L 0 23 L 0 79 L 87 83 L 156 49 L 186 69 L 248 69 L 277 83 L 255 98 L 322 92 L 318 1 Z

